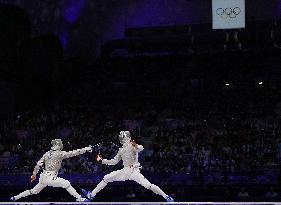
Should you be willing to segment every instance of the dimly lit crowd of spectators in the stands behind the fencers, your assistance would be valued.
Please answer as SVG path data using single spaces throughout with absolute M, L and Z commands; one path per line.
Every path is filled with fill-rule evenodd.
M 260 92 L 250 92 L 188 96 L 165 106 L 147 103 L 143 110 L 133 102 L 112 108 L 56 105 L 34 109 L 2 126 L 1 135 L 8 140 L 0 141 L 0 169 L 3 173 L 30 173 L 53 138 L 62 138 L 65 150 L 103 141 L 101 153 L 111 158 L 118 150 L 118 132 L 130 128 L 137 141 L 149 141 L 145 157 L 140 158 L 145 171 L 235 173 L 277 168 L 281 128 L 276 113 L 278 99 L 259 103 Z M 64 161 L 61 173 L 108 169 L 85 155 Z

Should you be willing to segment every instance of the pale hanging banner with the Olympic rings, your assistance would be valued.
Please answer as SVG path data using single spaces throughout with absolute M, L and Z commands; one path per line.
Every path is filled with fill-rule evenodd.
M 245 0 L 212 0 L 213 29 L 245 28 Z

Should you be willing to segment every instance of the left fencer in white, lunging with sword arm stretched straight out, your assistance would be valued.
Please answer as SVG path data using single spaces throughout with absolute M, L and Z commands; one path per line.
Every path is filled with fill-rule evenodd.
M 41 168 L 43 172 L 40 174 L 39 183 L 31 190 L 26 190 L 17 196 L 11 198 L 11 201 L 16 201 L 22 197 L 26 197 L 33 194 L 38 194 L 46 186 L 62 187 L 66 189 L 72 196 L 76 198 L 76 201 L 88 201 L 86 198 L 82 198 L 80 194 L 71 186 L 68 180 L 58 177 L 58 171 L 61 168 L 63 159 L 74 157 L 80 154 L 84 154 L 87 151 L 91 152 L 92 147 L 85 147 L 73 151 L 62 151 L 63 143 L 61 139 L 55 139 L 51 142 L 51 150 L 46 152 L 43 157 L 37 162 L 34 171 L 31 176 L 31 182 L 36 180 L 36 174 Z

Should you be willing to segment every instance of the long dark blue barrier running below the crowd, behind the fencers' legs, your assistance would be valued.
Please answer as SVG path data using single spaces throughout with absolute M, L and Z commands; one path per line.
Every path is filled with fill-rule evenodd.
M 247 173 L 150 173 L 142 172 L 152 183 L 159 185 L 194 185 L 194 184 L 270 184 L 276 183 L 279 171 Z M 30 174 L 31 175 L 31 174 Z M 0 175 L 2 186 L 24 186 L 30 183 L 30 175 Z M 105 173 L 64 174 L 73 185 L 96 185 Z M 39 177 L 39 176 L 38 176 Z M 119 182 L 122 183 L 122 182 Z M 116 184 L 119 184 L 118 182 Z

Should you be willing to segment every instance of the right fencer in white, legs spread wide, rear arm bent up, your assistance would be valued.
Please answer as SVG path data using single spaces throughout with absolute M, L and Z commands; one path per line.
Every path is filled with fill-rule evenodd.
M 158 186 L 150 183 L 141 173 L 140 173 L 140 163 L 138 161 L 138 153 L 144 148 L 142 145 L 136 144 L 131 140 L 129 131 L 121 131 L 119 135 L 122 147 L 119 148 L 117 155 L 114 159 L 107 160 L 102 159 L 100 155 L 97 156 L 97 161 L 101 161 L 102 164 L 106 165 L 116 165 L 120 160 L 123 161 L 124 168 L 121 170 L 113 171 L 110 174 L 104 176 L 103 180 L 97 185 L 97 187 L 91 192 L 82 189 L 82 193 L 90 200 L 92 200 L 95 195 L 102 190 L 107 183 L 114 181 L 126 181 L 133 180 L 147 189 L 150 189 L 156 194 L 161 195 L 168 202 L 173 202 L 174 199 L 167 194 L 165 194 Z

